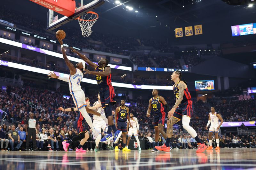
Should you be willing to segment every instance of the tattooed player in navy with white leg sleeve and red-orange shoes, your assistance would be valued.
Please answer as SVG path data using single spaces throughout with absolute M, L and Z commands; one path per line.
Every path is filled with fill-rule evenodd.
M 182 119 L 182 126 L 190 135 L 196 139 L 198 143 L 198 150 L 196 152 L 204 152 L 206 145 L 198 138 L 196 131 L 189 126 L 190 117 L 194 111 L 191 95 L 188 90 L 186 81 L 181 81 L 182 74 L 180 71 L 174 71 L 171 75 L 172 81 L 174 81 L 173 92 L 176 96 L 176 102 L 172 107 L 172 110 L 168 112 L 167 122 L 167 138 L 165 145 L 162 145 L 159 150 L 169 152 L 170 140 L 172 137 L 172 125 L 179 122 Z

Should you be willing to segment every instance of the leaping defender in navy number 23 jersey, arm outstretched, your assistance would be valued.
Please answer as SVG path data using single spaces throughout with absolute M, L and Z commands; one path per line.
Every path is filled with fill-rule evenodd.
M 107 135 L 105 135 L 100 142 L 106 142 L 109 139 L 113 138 L 111 133 L 111 129 L 114 131 L 114 142 L 116 143 L 120 136 L 122 135 L 122 131 L 116 129 L 116 126 L 113 121 L 112 108 L 113 105 L 116 104 L 115 101 L 115 89 L 111 84 L 111 68 L 108 66 L 108 60 L 106 58 L 101 58 L 98 62 L 98 65 L 93 63 L 87 57 L 77 52 L 75 49 L 71 48 L 72 52 L 77 53 L 81 59 L 83 59 L 86 63 L 88 63 L 95 71 L 89 71 L 88 69 L 84 69 L 84 74 L 93 74 L 95 75 L 95 79 L 97 84 L 100 87 L 100 101 L 102 108 L 105 111 L 106 117 L 108 118 L 108 131 Z

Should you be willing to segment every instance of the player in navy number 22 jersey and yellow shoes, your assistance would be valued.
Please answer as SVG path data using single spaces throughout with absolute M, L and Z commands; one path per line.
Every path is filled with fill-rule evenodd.
M 117 130 L 122 131 L 123 134 L 123 151 L 131 151 L 130 149 L 126 148 L 127 120 L 130 126 L 132 126 L 132 124 L 129 117 L 129 108 L 124 104 L 125 101 L 121 100 L 121 106 L 116 108 L 115 122 Z M 118 151 L 117 146 L 115 151 Z

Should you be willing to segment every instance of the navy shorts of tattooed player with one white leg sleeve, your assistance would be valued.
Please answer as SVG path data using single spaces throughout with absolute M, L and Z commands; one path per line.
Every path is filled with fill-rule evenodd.
M 182 116 L 187 115 L 191 117 L 194 111 L 194 105 L 192 100 L 188 100 L 187 102 L 181 103 L 179 107 L 175 110 L 173 117 L 181 120 Z

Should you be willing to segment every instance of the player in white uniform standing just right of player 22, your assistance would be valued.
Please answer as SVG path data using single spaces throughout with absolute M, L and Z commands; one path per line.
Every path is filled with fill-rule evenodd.
M 133 117 L 133 114 L 130 113 L 130 122 L 132 124 L 132 126 L 129 125 L 129 122 L 127 120 L 127 129 L 129 127 L 129 131 L 128 131 L 128 139 L 127 139 L 127 145 L 126 148 L 128 149 L 132 134 L 135 136 L 135 139 L 139 145 L 139 151 L 141 151 L 140 148 L 140 140 L 139 140 L 139 123 L 138 123 L 138 119 L 136 117 Z

